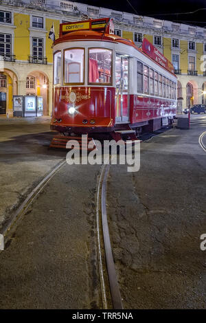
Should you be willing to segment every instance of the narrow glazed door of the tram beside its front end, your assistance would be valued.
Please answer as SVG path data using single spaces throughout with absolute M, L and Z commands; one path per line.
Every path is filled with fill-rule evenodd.
M 128 96 L 128 63 L 129 59 L 123 55 L 115 58 L 115 111 L 116 123 L 129 121 L 129 96 Z

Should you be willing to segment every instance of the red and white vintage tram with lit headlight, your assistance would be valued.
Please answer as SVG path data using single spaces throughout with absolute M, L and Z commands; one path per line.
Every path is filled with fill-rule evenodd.
M 174 68 L 146 39 L 139 49 L 112 19 L 60 24 L 54 43 L 51 129 L 91 137 L 138 135 L 176 115 Z

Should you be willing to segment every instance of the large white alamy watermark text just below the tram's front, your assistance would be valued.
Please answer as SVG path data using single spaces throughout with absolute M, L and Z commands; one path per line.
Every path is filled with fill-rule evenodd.
M 69 165 L 127 165 L 128 172 L 138 172 L 140 168 L 140 141 L 135 140 L 91 140 L 88 144 L 87 135 L 82 135 L 82 141 L 69 140 L 67 149 L 71 149 L 67 153 L 67 164 Z

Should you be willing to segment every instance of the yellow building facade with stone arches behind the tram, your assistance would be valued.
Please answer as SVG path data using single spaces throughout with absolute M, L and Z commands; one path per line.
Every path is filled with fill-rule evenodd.
M 205 103 L 205 28 L 70 1 L 21 2 L 0 4 L 0 114 L 12 116 L 14 95 L 30 95 L 41 96 L 43 115 L 51 115 L 52 24 L 58 37 L 60 23 L 100 16 L 113 18 L 115 34 L 140 48 L 145 37 L 173 63 L 179 113 L 189 104 Z

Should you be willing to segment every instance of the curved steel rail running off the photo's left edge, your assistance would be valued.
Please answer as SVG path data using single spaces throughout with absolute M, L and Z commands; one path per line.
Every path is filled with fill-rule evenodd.
M 10 221 L 8 223 L 6 223 L 5 225 L 3 225 L 0 233 L 3 235 L 4 239 L 7 238 L 13 225 L 16 224 L 17 221 L 19 221 L 19 219 L 21 219 L 21 216 L 23 214 L 25 214 L 25 212 L 28 210 L 31 203 L 34 201 L 34 199 L 36 199 L 36 197 L 41 192 L 41 190 L 43 190 L 43 188 L 45 188 L 45 186 L 50 181 L 50 179 L 52 179 L 52 177 L 54 177 L 56 172 L 58 172 L 58 170 L 60 170 L 60 168 L 62 166 L 64 166 L 66 164 L 66 162 L 67 161 L 65 161 L 65 159 L 64 159 L 63 161 L 60 162 L 60 164 L 55 166 L 53 168 L 53 170 L 51 172 L 49 172 L 49 174 L 47 176 L 45 176 L 45 178 L 40 183 L 38 183 L 38 185 L 34 188 L 34 190 L 32 190 L 32 192 L 30 192 L 30 194 L 23 201 L 23 203 L 21 203 L 19 208 L 12 215 L 12 218 L 10 219 Z

